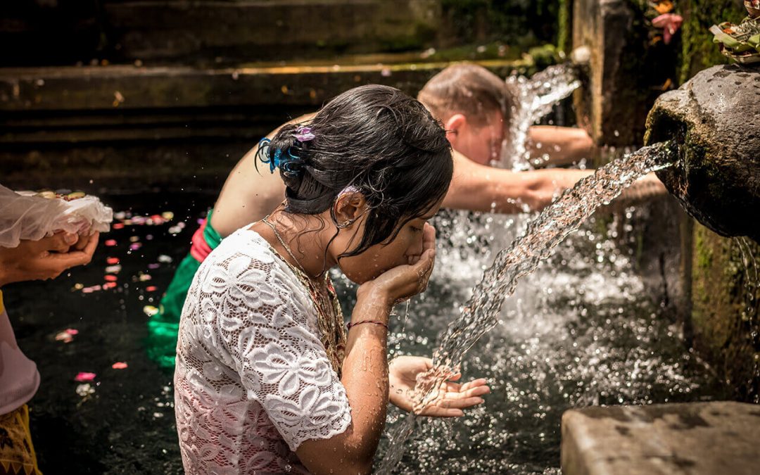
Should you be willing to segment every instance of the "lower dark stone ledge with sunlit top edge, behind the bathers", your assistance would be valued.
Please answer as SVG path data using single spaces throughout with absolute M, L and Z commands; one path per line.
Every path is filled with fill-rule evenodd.
M 0 176 L 22 188 L 188 175 L 220 185 L 245 151 L 288 119 L 361 84 L 415 95 L 448 64 L 350 58 L 245 68 L 0 68 Z M 481 64 L 505 77 L 531 63 Z

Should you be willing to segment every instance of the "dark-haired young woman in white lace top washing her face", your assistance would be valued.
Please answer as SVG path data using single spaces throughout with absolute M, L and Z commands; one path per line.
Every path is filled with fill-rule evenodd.
M 410 410 L 415 376 L 431 366 L 402 357 L 389 374 L 386 334 L 391 306 L 432 271 L 426 220 L 452 173 L 445 131 L 416 100 L 372 85 L 263 142 L 259 157 L 280 168 L 287 198 L 211 252 L 182 310 L 185 471 L 366 473 L 389 399 Z M 335 265 L 360 284 L 348 331 Z M 488 391 L 482 379 L 445 383 L 423 414 L 461 416 Z

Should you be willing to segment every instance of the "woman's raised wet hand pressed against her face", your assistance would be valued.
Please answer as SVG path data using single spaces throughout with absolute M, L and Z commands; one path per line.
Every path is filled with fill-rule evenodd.
M 427 288 L 433 265 L 435 264 L 435 228 L 425 223 L 423 229 L 423 252 L 410 256 L 409 264 L 388 269 L 374 280 L 359 286 L 357 298 L 380 296 L 388 306 L 398 300 L 408 299 Z

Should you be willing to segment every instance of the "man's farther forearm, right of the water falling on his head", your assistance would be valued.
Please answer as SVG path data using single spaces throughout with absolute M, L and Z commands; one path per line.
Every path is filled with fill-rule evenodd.
M 543 154 L 549 160 L 546 165 L 569 165 L 594 156 L 594 140 L 582 128 L 534 125 L 528 131 L 528 150 L 531 158 Z

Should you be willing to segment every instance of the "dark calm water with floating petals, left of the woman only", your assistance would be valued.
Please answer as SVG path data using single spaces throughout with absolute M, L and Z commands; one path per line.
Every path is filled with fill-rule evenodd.
M 87 267 L 54 281 L 4 289 L 18 343 L 42 376 L 30 408 L 43 473 L 182 473 L 172 374 L 146 356 L 144 307 L 158 306 L 176 264 L 188 252 L 198 217 L 214 198 L 187 192 L 102 195 L 116 212 L 150 216 L 170 211 L 174 218 L 159 226 L 112 230 L 101 236 Z M 182 230 L 179 223 L 185 223 Z M 117 244 L 106 246 L 106 239 Z M 137 242 L 140 249 L 130 250 Z M 109 257 L 119 258 L 122 266 L 113 274 L 115 288 L 92 293 L 76 288 L 103 284 Z M 141 277 L 146 275 L 150 280 Z M 73 341 L 55 340 L 67 328 L 78 331 Z M 116 362 L 128 367 L 112 369 Z M 97 374 L 89 383 L 92 394 L 77 393 L 83 384 L 74 381 L 78 372 Z

